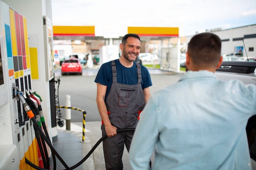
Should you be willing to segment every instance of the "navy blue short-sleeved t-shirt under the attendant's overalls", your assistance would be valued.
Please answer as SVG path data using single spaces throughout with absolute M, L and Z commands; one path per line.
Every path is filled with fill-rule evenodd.
M 133 66 L 130 68 L 123 66 L 120 63 L 119 59 L 115 60 L 115 64 L 117 67 L 117 83 L 129 84 L 129 85 L 138 84 L 137 67 L 135 62 L 133 62 Z M 142 77 L 141 78 L 142 89 L 152 86 L 148 69 L 143 65 L 141 65 L 141 77 Z M 106 101 L 108 97 L 108 93 L 110 92 L 110 87 L 113 82 L 111 61 L 101 65 L 101 68 L 99 69 L 99 72 L 97 73 L 97 76 L 94 82 L 108 86 L 106 96 L 105 96 L 105 101 Z

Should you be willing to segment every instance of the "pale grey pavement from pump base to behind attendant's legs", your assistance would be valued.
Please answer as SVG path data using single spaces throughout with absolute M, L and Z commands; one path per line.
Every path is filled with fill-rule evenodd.
M 67 161 L 69 167 L 74 166 L 76 163 L 81 161 L 88 152 L 92 149 L 92 147 L 101 139 L 101 121 L 89 121 L 85 122 L 85 141 L 79 143 L 82 140 L 83 136 L 83 123 L 82 122 L 75 122 L 70 124 L 70 130 L 65 130 L 65 125 L 58 129 L 58 141 L 53 143 L 54 148 L 56 151 L 63 157 L 64 161 Z M 67 133 L 65 135 L 63 133 Z M 73 136 L 72 136 L 73 135 Z M 72 139 L 71 139 L 72 138 Z M 69 141 L 69 145 L 67 144 L 64 148 L 61 144 L 64 141 Z M 65 144 L 64 144 L 65 145 Z M 68 155 L 72 155 L 72 150 L 69 152 L 65 152 L 65 150 L 69 150 L 69 147 L 76 145 L 79 147 L 81 145 L 82 154 L 79 153 L 79 150 L 75 150 L 76 155 L 72 156 L 73 159 L 68 157 Z M 78 148 L 76 148 L 78 149 Z M 123 154 L 123 164 L 124 170 L 131 170 L 130 162 L 129 162 L 129 155 L 126 148 L 124 149 Z M 52 166 L 53 167 L 53 163 Z M 82 170 L 104 170 L 105 169 L 105 161 L 103 155 L 103 146 L 102 142 L 97 146 L 94 152 L 90 155 L 88 159 L 83 163 Z M 57 170 L 64 169 L 64 166 L 57 160 Z M 81 170 L 81 166 L 77 167 L 76 169 Z

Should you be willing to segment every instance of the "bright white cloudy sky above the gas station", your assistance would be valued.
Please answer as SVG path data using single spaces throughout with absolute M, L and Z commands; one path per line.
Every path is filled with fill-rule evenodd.
M 256 24 L 256 0 L 52 0 L 52 24 L 120 36 L 127 26 L 179 27 L 189 36 Z

